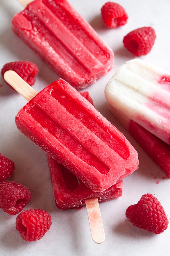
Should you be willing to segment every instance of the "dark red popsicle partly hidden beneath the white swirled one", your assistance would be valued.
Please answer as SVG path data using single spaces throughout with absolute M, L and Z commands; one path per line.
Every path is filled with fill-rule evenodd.
M 170 178 L 170 146 L 138 123 L 129 119 L 116 108 L 111 105 L 109 105 L 109 108 L 133 138 L 141 145 L 145 152 Z

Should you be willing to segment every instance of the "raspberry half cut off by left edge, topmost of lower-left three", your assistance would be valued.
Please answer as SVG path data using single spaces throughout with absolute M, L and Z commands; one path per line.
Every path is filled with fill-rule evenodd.
M 14 162 L 7 157 L 2 156 L 0 153 L 0 182 L 8 179 L 13 173 L 15 168 Z

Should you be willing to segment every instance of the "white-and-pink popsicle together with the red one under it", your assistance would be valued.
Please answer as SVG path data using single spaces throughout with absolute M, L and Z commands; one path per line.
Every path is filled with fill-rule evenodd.
M 105 88 L 109 108 L 170 177 L 170 75 L 140 59 L 126 62 Z

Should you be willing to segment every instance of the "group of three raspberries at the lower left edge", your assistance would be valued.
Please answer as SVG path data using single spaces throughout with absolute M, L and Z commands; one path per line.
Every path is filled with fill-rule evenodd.
M 31 200 L 29 189 L 19 183 L 7 181 L 14 171 L 14 162 L 0 154 L 0 208 L 16 215 L 16 230 L 25 241 L 37 241 L 50 229 L 51 216 L 40 209 L 23 208 Z

